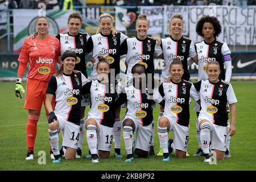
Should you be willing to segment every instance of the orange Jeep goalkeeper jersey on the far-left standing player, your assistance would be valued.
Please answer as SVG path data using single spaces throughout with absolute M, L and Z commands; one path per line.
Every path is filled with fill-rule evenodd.
M 53 36 L 41 40 L 36 36 L 35 39 L 26 39 L 18 61 L 29 63 L 27 78 L 49 81 L 51 76 L 56 73 L 55 62 L 59 63 L 60 42 Z

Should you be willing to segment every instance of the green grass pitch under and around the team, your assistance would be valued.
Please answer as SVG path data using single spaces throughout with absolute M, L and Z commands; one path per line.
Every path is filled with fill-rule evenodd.
M 38 133 L 35 142 L 35 159 L 26 161 L 26 123 L 28 111 L 23 109 L 24 97 L 20 100 L 14 94 L 14 82 L 0 82 L 0 170 L 255 170 L 256 169 L 256 81 L 232 81 L 237 96 L 237 125 L 236 134 L 231 139 L 230 150 L 232 158 L 217 161 L 216 165 L 203 162 L 204 158 L 195 158 L 192 155 L 197 150 L 196 141 L 196 113 L 191 104 L 191 124 L 189 130 L 189 157 L 177 159 L 171 156 L 169 163 L 162 162 L 162 158 L 154 156 L 147 159 L 135 158 L 132 163 L 125 163 L 125 145 L 121 140 L 122 159 L 115 159 L 113 148 L 110 159 L 101 159 L 100 163 L 93 164 L 86 159 L 88 146 L 86 139 L 82 146 L 81 159 L 67 161 L 63 159 L 59 164 L 52 164 L 49 157 L 48 123 L 42 106 L 42 113 L 38 122 Z M 26 86 L 26 82 L 23 82 Z M 86 109 L 87 113 L 88 109 Z M 121 110 L 121 116 L 124 113 Z M 154 109 L 154 119 L 158 118 L 159 106 Z M 155 122 L 155 126 L 157 123 Z M 169 134 L 170 137 L 172 133 Z M 85 137 L 84 137 L 85 138 Z M 155 127 L 155 152 L 159 150 L 157 127 Z M 61 144 L 61 139 L 60 139 Z M 114 145 L 114 144 L 113 144 Z M 39 164 L 39 151 L 46 152 L 46 164 Z

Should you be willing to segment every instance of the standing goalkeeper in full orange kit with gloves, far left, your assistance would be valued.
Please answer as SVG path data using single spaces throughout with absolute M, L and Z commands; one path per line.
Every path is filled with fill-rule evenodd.
M 27 160 L 34 159 L 34 145 L 36 139 L 36 125 L 40 117 L 42 104 L 45 105 L 46 89 L 51 76 L 56 73 L 55 63 L 60 55 L 59 41 L 48 35 L 49 22 L 45 16 L 39 16 L 35 24 L 38 35 L 35 39 L 26 39 L 20 52 L 18 61 L 18 76 L 15 94 L 21 97 L 24 93 L 22 77 L 27 69 L 27 92 L 24 109 L 28 109 L 27 122 Z M 59 63 L 59 62 L 58 62 Z M 52 103 L 54 105 L 54 102 Z M 49 117 L 46 110 L 47 118 Z

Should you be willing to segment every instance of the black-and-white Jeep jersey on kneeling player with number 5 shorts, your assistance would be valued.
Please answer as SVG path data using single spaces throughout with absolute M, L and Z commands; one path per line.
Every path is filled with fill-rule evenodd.
M 191 82 L 182 80 L 179 83 L 163 82 L 159 86 L 159 93 L 164 97 L 164 114 L 173 118 L 182 126 L 189 125 L 189 98 L 200 99 L 195 86 Z

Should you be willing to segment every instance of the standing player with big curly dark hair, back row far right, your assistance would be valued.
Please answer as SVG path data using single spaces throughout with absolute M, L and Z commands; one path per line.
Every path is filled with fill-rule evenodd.
M 207 65 L 210 61 L 217 61 L 220 64 L 220 80 L 230 82 L 232 76 L 232 60 L 230 56 L 230 49 L 225 42 L 217 39 L 217 36 L 221 34 L 221 24 L 220 21 L 214 16 L 203 16 L 199 19 L 196 24 L 197 35 L 204 38 L 201 42 L 196 43 L 196 52 L 199 59 L 198 81 L 207 79 Z M 224 71 L 224 65 L 226 67 L 226 72 Z M 197 111 L 197 116 L 199 114 L 200 106 L 196 103 L 195 110 Z M 229 127 L 229 125 L 228 125 Z M 197 141 L 200 147 L 200 131 L 197 129 Z M 229 155 L 229 142 L 230 137 L 228 136 L 226 157 Z M 201 156 L 201 147 L 194 156 Z

